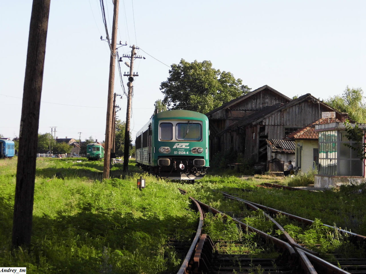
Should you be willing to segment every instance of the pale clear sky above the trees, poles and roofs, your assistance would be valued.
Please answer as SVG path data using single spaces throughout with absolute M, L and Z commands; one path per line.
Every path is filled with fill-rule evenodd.
M 0 134 L 10 138 L 19 136 L 31 5 L 0 1 Z M 105 8 L 111 35 L 111 0 Z M 132 140 L 182 58 L 210 60 L 252 90 L 269 85 L 290 98 L 366 91 L 365 12 L 365 0 L 120 0 L 117 39 L 128 45 L 119 55 L 137 45 L 146 58 L 135 61 Z M 105 139 L 110 52 L 101 35 L 99 0 L 51 0 L 39 133 L 56 126 L 59 138 Z M 115 92 L 123 94 L 117 74 Z M 126 96 L 117 104 L 125 121 Z

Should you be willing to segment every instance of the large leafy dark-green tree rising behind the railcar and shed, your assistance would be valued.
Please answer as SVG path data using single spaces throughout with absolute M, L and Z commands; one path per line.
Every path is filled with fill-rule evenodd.
M 172 64 L 169 77 L 160 85 L 163 103 L 170 109 L 208 113 L 250 91 L 230 72 L 212 68 L 210 61 Z

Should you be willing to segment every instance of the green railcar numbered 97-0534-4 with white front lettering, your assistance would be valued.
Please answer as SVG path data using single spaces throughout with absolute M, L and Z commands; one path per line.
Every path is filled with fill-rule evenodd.
M 136 135 L 136 163 L 171 180 L 196 180 L 209 167 L 208 118 L 189 110 L 155 114 Z

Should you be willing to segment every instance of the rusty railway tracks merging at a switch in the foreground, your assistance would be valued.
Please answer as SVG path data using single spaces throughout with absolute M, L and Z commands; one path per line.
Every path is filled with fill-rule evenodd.
M 186 191 L 180 189 L 182 194 L 187 194 Z M 283 229 L 283 227 L 273 219 L 273 214 L 283 214 L 286 217 L 301 221 L 304 224 L 313 224 L 314 221 L 294 216 L 288 213 L 280 212 L 279 210 L 271 209 L 256 203 L 234 197 L 227 193 L 223 193 L 224 197 L 236 202 L 244 203 L 251 210 L 268 210 L 268 213 L 263 212 L 264 216 L 275 225 L 276 229 L 282 232 L 284 240 L 278 237 L 269 235 L 257 228 L 254 228 L 240 220 L 240 217 L 234 218 L 234 215 L 238 216 L 238 212 L 224 213 L 212 208 L 205 203 L 190 197 L 197 210 L 200 212 L 199 228 L 196 236 L 191 243 L 190 251 L 188 251 L 186 258 L 178 271 L 178 274 L 228 274 L 228 273 L 366 273 L 366 259 L 365 258 L 341 258 L 337 257 L 337 254 L 332 254 L 333 260 L 325 260 L 321 258 L 318 251 L 310 250 L 303 244 L 298 244 L 290 235 Z M 225 252 L 225 246 L 230 246 L 229 242 L 213 242 L 208 234 L 202 234 L 203 212 L 209 214 L 220 214 L 223 220 L 229 218 L 229 214 L 233 214 L 231 219 L 245 231 L 246 233 L 253 233 L 256 235 L 258 241 L 262 243 L 273 245 L 278 252 L 277 256 L 272 258 L 265 256 L 256 256 L 255 254 L 249 254 L 250 252 L 238 252 L 233 254 L 232 252 Z M 323 224 L 324 225 L 324 224 Z M 328 225 L 324 225 L 330 227 Z M 332 227 L 333 228 L 333 227 Z M 339 228 L 338 231 L 344 235 L 350 237 L 350 240 L 357 244 L 365 244 L 366 237 L 358 235 L 348 231 L 344 231 Z M 240 245 L 240 243 L 235 243 Z M 236 246 L 236 250 L 240 250 Z M 330 255 L 330 254 L 326 254 Z

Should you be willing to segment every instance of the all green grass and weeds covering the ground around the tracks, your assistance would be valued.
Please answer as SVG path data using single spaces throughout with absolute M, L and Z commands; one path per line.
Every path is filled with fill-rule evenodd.
M 111 170 L 111 179 L 101 180 L 102 162 L 38 158 L 31 246 L 12 251 L 15 169 L 16 158 L 0 161 L 3 209 L 0 265 L 26 266 L 29 273 L 174 273 L 183 254 L 170 242 L 189 241 L 197 226 L 197 213 L 191 209 L 188 195 L 181 195 L 178 187 L 220 210 L 235 209 L 232 202 L 219 193 L 226 191 L 288 213 L 312 220 L 318 218 L 318 222 L 366 234 L 365 185 L 351 184 L 324 192 L 270 190 L 259 185 L 262 182 L 290 184 L 287 180 L 293 178 L 284 180 L 268 175 L 238 178 L 240 173 L 208 175 L 191 184 L 143 174 L 133 161 L 125 179 L 121 176 L 122 165 L 116 164 Z M 146 188 L 141 191 L 136 187 L 140 176 L 146 179 Z M 244 222 L 264 231 L 272 230 L 272 225 L 263 220 L 260 213 L 250 212 L 243 206 L 234 207 L 247 216 Z M 297 233 L 294 236 L 298 239 L 302 237 L 310 243 L 316 239 L 330 242 L 327 236 L 318 235 L 318 222 L 310 228 L 314 233 L 299 224 L 292 224 L 289 230 Z M 221 233 L 223 229 L 225 233 Z M 210 214 L 204 230 L 214 240 L 245 242 L 243 252 L 250 250 L 258 254 L 267 248 L 255 244 L 253 235 L 241 231 L 231 221 L 223 224 L 220 217 Z M 306 231 L 311 233 L 306 234 Z

